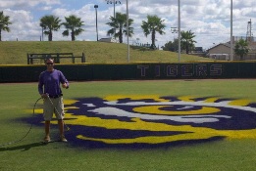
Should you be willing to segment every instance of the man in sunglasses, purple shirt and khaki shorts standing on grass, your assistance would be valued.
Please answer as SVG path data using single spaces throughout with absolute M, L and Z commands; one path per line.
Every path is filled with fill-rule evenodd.
M 44 117 L 44 129 L 45 137 L 44 142 L 49 143 L 50 139 L 50 121 L 53 113 L 55 113 L 58 119 L 60 141 L 68 142 L 64 136 L 64 104 L 63 94 L 60 88 L 62 84 L 63 88 L 69 88 L 69 82 L 65 78 L 64 74 L 57 69 L 54 69 L 53 59 L 46 60 L 47 69 L 40 73 L 38 82 L 38 92 L 43 98 L 43 117 Z

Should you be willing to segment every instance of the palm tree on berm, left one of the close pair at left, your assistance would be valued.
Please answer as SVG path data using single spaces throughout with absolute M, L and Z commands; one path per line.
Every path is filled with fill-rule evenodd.
M 61 27 L 61 20 L 52 15 L 44 16 L 40 19 L 40 26 L 44 30 L 44 34 L 48 35 L 48 41 L 52 41 L 53 31 L 58 31 Z

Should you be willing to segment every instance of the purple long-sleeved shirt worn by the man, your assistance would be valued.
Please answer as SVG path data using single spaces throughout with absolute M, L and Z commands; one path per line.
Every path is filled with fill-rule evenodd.
M 50 96 L 61 95 L 62 90 L 60 83 L 67 83 L 68 80 L 65 78 L 60 70 L 54 69 L 53 71 L 43 71 L 39 75 L 38 92 L 39 94 L 49 94 Z

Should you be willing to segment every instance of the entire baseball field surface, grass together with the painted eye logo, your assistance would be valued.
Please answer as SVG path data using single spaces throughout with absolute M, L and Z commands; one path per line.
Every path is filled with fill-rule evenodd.
M 37 83 L 0 84 L 0 170 L 255 170 L 255 87 L 254 79 L 71 82 L 69 142 L 43 144 Z

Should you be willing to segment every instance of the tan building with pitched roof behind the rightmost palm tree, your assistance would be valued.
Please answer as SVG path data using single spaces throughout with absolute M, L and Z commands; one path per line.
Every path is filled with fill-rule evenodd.
M 236 56 L 234 53 L 234 46 L 235 42 L 241 37 L 234 37 L 233 38 L 233 60 L 240 60 L 240 57 Z M 248 43 L 249 44 L 249 53 L 244 57 L 244 60 L 256 60 L 256 42 L 251 41 Z M 215 60 L 225 60 L 229 61 L 230 60 L 230 42 L 227 43 L 220 43 L 218 45 L 213 46 L 212 48 L 207 50 L 207 56 L 210 59 L 215 59 Z

